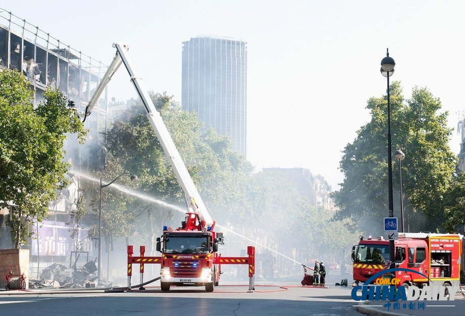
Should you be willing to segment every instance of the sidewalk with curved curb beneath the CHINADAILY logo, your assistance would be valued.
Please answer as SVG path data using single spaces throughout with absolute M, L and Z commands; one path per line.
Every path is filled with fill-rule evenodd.
M 465 298 L 461 294 L 455 295 L 453 301 L 412 301 L 412 302 L 400 302 L 394 309 L 395 302 L 390 302 L 391 305 L 388 307 L 384 306 L 388 304 L 387 301 L 370 301 L 366 303 L 360 303 L 356 309 L 364 314 L 371 316 L 392 316 L 392 315 L 447 315 L 447 316 L 463 316 L 465 314 Z M 411 303 L 411 305 L 409 305 Z M 415 304 L 414 304 L 415 303 Z M 420 303 L 420 304 L 419 304 Z M 422 305 L 424 303 L 424 305 Z M 404 308 L 405 304 L 405 308 Z M 376 306 L 373 306 L 376 305 Z M 381 305 L 381 306 L 380 306 Z M 419 309 L 420 307 L 420 309 Z

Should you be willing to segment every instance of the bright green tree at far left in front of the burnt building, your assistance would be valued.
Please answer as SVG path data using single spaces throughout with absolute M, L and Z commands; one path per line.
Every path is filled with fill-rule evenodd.
M 67 185 L 63 142 L 86 131 L 65 96 L 44 92 L 34 109 L 29 81 L 19 72 L 0 72 L 0 206 L 13 204 L 9 224 L 14 245 L 29 237 L 29 224 L 47 214 L 48 203 Z

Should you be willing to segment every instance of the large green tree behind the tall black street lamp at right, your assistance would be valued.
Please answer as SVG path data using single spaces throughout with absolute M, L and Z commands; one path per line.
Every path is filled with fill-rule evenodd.
M 405 206 L 417 220 L 420 214 L 427 219 L 416 223 L 414 230 L 435 230 L 443 221 L 443 195 L 456 164 L 448 146 L 447 112 L 439 113 L 439 98 L 426 88 L 415 87 L 411 98 L 404 100 L 399 82 L 392 83 L 390 100 L 392 144 L 406 155 L 402 162 Z M 361 228 L 373 231 L 381 228 L 381 219 L 388 214 L 386 96 L 370 98 L 367 109 L 371 121 L 345 146 L 340 162 L 344 181 L 333 196 L 340 208 L 338 218 L 352 217 Z M 390 148 L 390 152 L 394 150 Z M 399 175 L 393 155 L 392 159 L 396 210 L 400 205 Z

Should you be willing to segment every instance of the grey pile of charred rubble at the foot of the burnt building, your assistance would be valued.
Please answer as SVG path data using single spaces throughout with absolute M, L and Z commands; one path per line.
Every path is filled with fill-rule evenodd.
M 111 287 L 112 282 L 98 280 L 97 267 L 89 261 L 81 269 L 70 269 L 60 264 L 53 264 L 43 269 L 40 280 L 29 279 L 30 289 L 42 288 L 94 288 Z M 96 281 L 98 283 L 96 284 Z

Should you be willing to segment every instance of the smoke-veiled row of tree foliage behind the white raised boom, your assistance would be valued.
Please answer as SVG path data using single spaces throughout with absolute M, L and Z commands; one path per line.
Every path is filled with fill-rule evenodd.
M 288 255 L 291 249 L 300 247 L 306 258 L 315 257 L 318 252 L 323 257 L 331 251 L 341 256 L 342 250 L 355 242 L 350 238 L 349 220 L 331 222 L 334 212 L 312 206 L 296 189 L 295 183 L 278 174 L 253 173 L 250 163 L 233 149 L 228 137 L 218 135 L 212 128 L 204 130 L 197 115 L 182 111 L 172 96 L 153 92 L 150 95 L 209 213 L 219 225 L 234 228 L 244 236 L 263 238 L 264 243 L 268 240 L 268 245 L 274 240 L 273 236 L 282 236 L 283 231 L 303 232 L 276 238 L 271 243 L 284 246 L 282 251 Z M 109 129 L 106 146 L 109 155 L 105 172 L 115 168 L 119 168 L 120 173 L 132 172 L 139 178 L 135 183 L 139 192 L 175 205 L 185 204 L 178 181 L 141 104 L 117 117 Z M 98 177 L 98 172 L 94 177 Z M 98 185 L 93 186 L 89 192 L 95 196 Z M 123 196 L 118 194 L 124 193 L 112 191 L 111 186 L 104 190 L 108 190 L 105 194 L 114 194 L 115 201 L 123 201 Z M 175 210 L 141 199 L 119 206 L 104 196 L 103 203 L 110 203 L 104 209 L 113 214 L 107 220 L 113 219 L 124 226 L 126 232 L 132 226 L 131 239 L 141 244 L 153 245 L 154 233 L 159 232 L 162 225 L 177 227 L 183 218 Z M 106 221 L 105 225 L 113 227 Z M 107 231 L 110 230 L 106 228 Z M 218 228 L 218 231 L 222 230 Z M 341 239 L 334 239 L 335 232 Z M 232 241 L 237 239 L 234 234 L 225 233 L 232 243 L 228 248 L 232 250 L 236 246 Z M 242 244 L 243 240 L 238 241 Z

